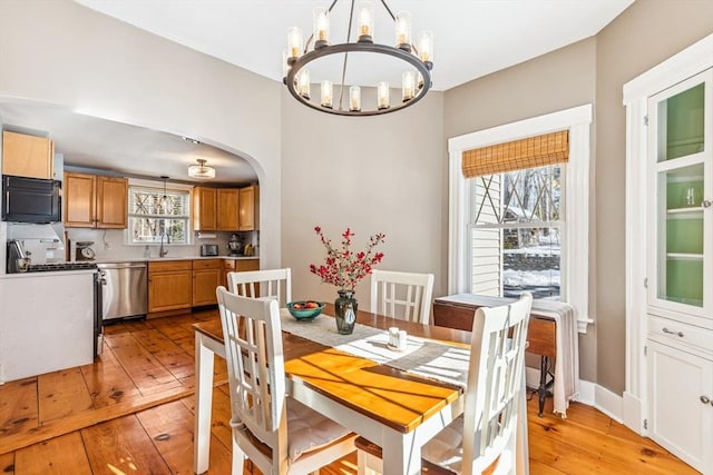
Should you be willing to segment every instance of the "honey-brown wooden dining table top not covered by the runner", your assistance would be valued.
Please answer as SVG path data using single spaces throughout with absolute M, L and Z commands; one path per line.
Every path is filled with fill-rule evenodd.
M 332 318 L 331 304 L 324 314 L 320 318 Z M 458 329 L 401 320 L 394 324 L 393 318 L 367 311 L 359 311 L 356 321 L 383 329 L 398 326 L 409 335 L 457 346 L 470 344 L 470 333 Z M 219 320 L 193 326 L 196 331 L 223 342 Z M 283 349 L 290 378 L 300 378 L 314 390 L 402 433 L 413 431 L 462 393 L 460 387 L 414 376 L 287 333 L 283 333 Z

